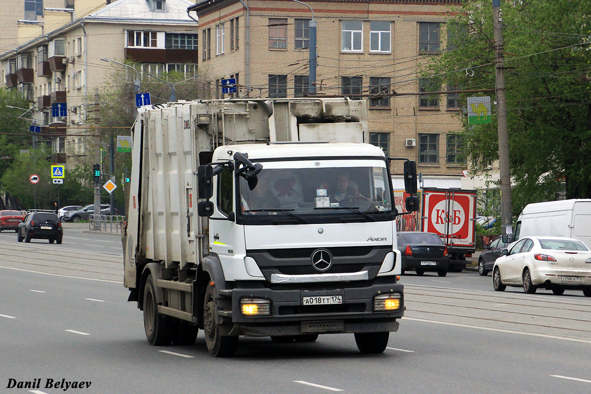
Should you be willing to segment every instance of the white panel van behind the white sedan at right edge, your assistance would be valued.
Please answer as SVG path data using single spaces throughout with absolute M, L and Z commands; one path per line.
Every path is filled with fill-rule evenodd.
M 591 198 L 527 204 L 517 218 L 513 242 L 527 236 L 576 238 L 591 248 Z

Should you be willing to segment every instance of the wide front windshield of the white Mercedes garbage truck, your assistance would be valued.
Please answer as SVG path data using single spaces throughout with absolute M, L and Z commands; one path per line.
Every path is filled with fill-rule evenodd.
M 245 179 L 239 181 L 241 215 L 245 218 L 291 217 L 293 220 L 294 216 L 347 215 L 375 220 L 374 214 L 394 213 L 385 161 L 355 159 L 262 164 L 253 190 L 249 189 Z

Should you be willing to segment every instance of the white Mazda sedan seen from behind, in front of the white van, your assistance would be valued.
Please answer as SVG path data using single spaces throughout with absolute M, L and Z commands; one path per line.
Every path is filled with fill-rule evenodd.
M 523 286 L 529 294 L 545 288 L 560 295 L 564 289 L 579 289 L 591 297 L 591 252 L 577 239 L 527 237 L 501 254 L 492 271 L 496 291 Z

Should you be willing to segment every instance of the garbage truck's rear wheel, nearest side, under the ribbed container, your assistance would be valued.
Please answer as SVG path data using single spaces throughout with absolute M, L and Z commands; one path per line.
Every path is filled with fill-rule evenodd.
M 158 313 L 158 301 L 152 274 L 148 275 L 144 288 L 144 330 L 151 345 L 170 345 L 171 321 L 170 318 Z

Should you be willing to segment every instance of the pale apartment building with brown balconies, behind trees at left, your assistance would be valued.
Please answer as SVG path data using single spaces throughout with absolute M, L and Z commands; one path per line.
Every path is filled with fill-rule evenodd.
M 132 59 L 140 63 L 138 73 L 197 73 L 197 22 L 187 16 L 187 7 L 193 4 L 187 0 L 66 0 L 64 4 L 61 0 L 61 8 L 40 11 L 42 20 L 18 24 L 17 36 L 26 39 L 1 51 L 2 83 L 30 100 L 33 123 L 41 126 L 37 141 L 51 144 L 54 162 L 70 166 L 93 159 L 89 146 L 97 116 L 95 89 L 112 84 L 107 79 L 117 67 L 125 69 L 100 58 L 120 63 Z M 131 70 L 121 85 L 131 85 L 134 77 Z M 53 116 L 54 103 L 65 113 Z

